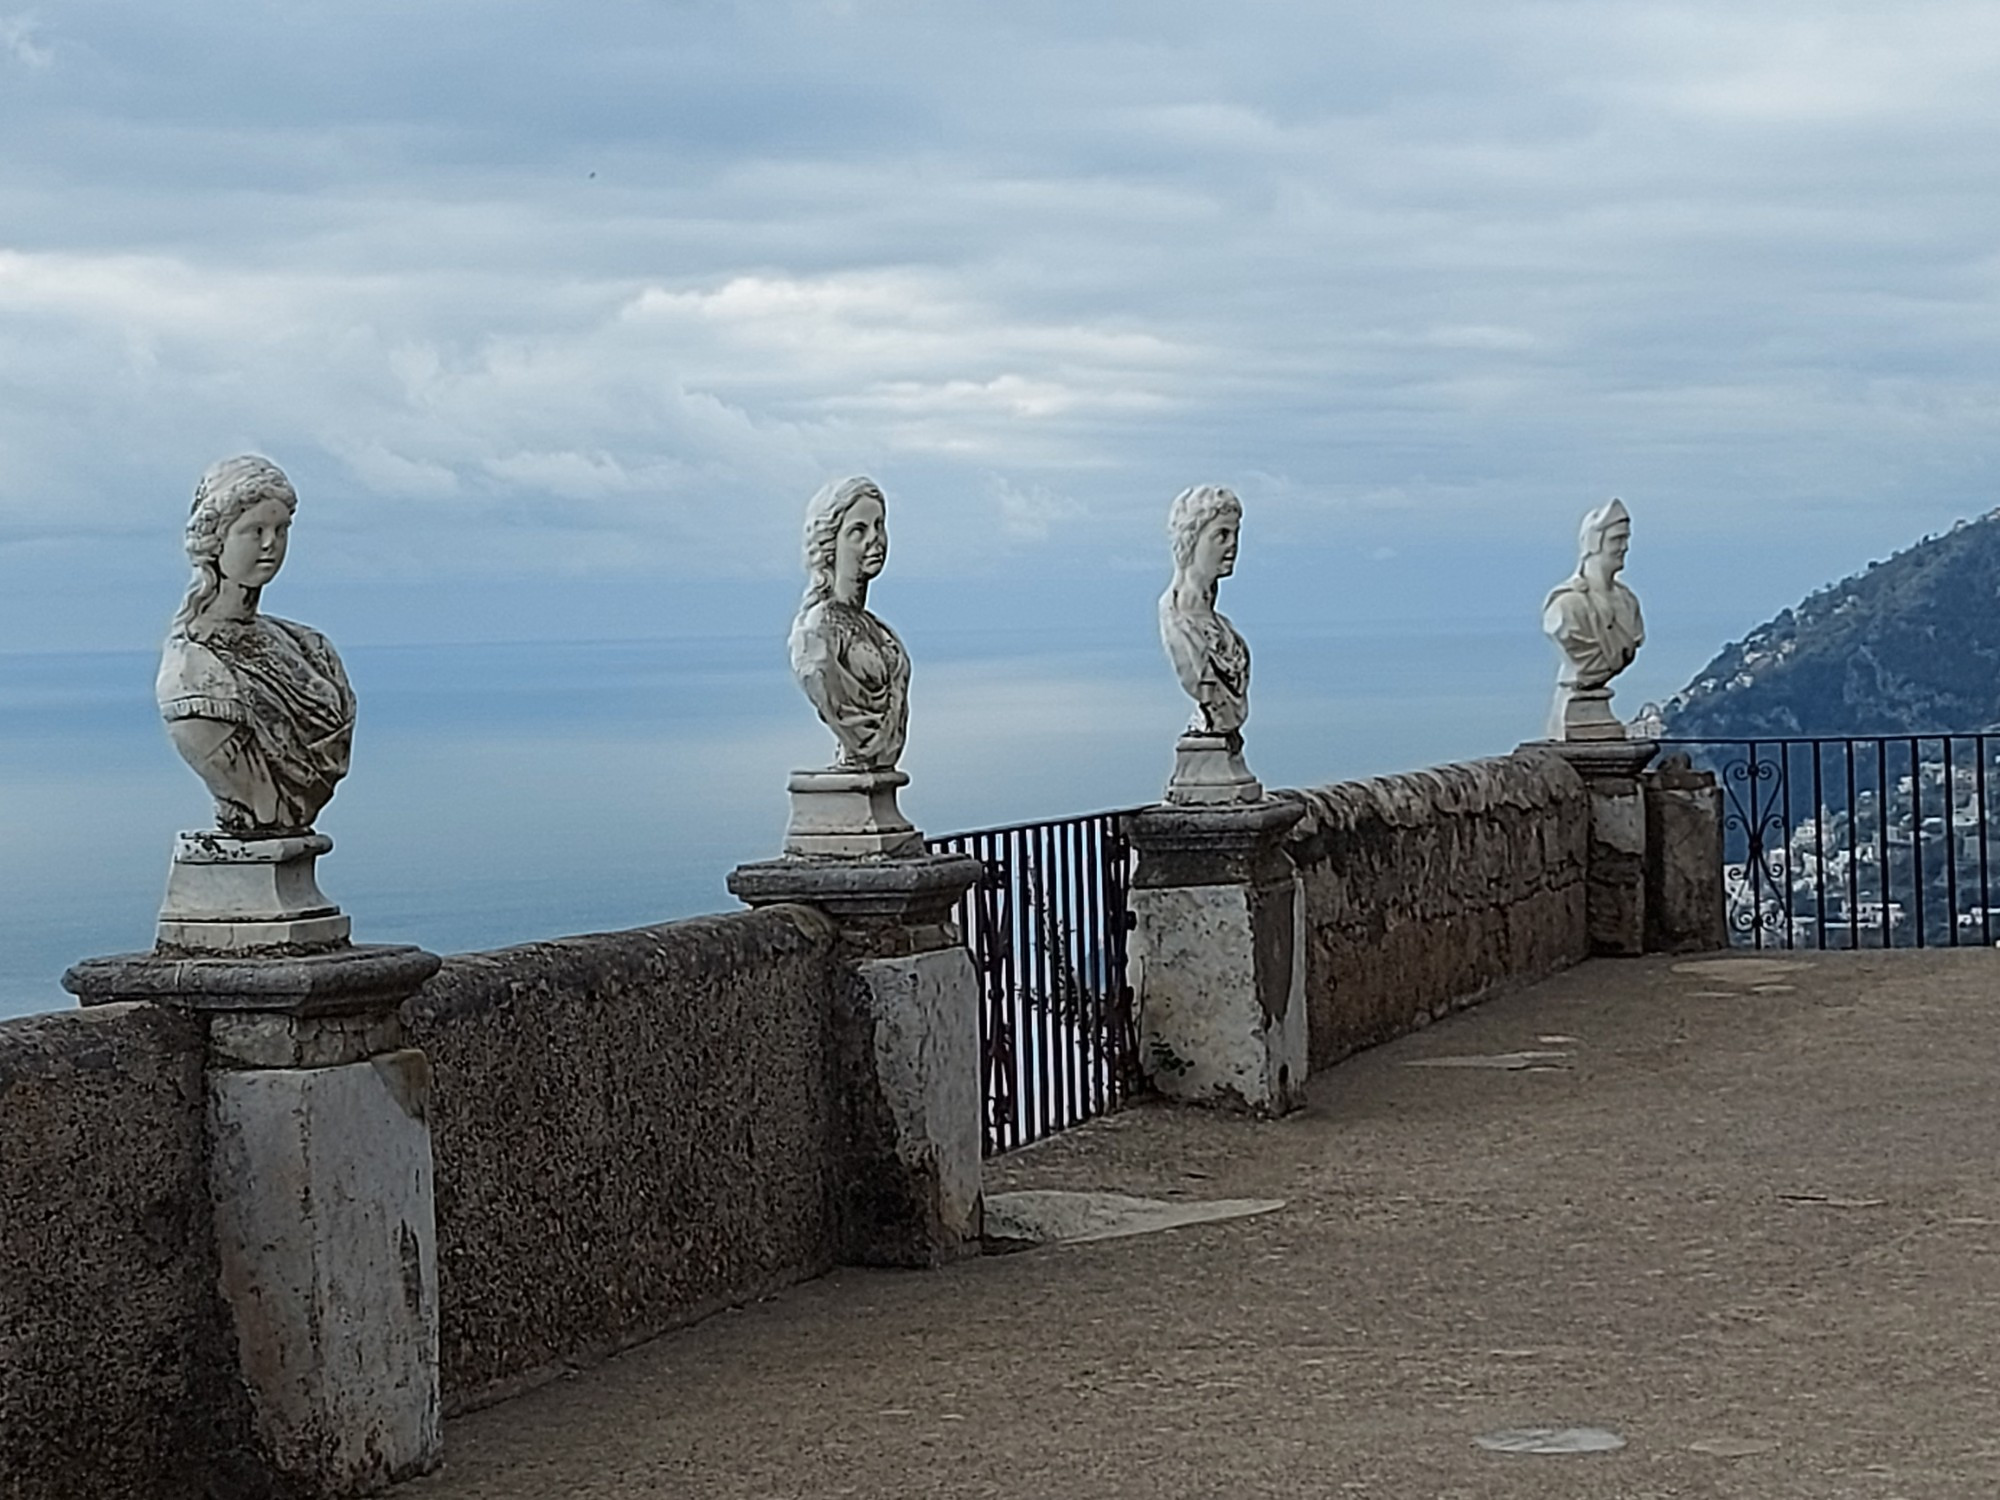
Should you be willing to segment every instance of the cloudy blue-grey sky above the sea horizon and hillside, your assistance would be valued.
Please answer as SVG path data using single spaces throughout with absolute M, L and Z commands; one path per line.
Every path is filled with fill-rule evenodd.
M 1150 638 L 1196 482 L 1252 646 L 1532 632 L 1618 494 L 1664 690 L 1996 504 L 1984 0 L 8 4 L 4 650 L 240 450 L 382 646 L 782 638 L 850 472 L 918 658 Z

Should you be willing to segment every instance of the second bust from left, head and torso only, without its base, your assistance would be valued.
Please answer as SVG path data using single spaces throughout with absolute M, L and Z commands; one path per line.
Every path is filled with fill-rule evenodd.
M 806 596 L 792 620 L 792 674 L 840 742 L 836 770 L 894 770 L 910 724 L 910 656 L 868 612 L 888 560 L 888 506 L 874 480 L 836 480 L 806 506 Z

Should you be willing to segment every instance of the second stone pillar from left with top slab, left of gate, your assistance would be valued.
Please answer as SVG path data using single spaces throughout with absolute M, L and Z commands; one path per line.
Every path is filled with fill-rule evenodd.
M 952 914 L 970 854 L 764 860 L 730 872 L 748 906 L 814 906 L 850 984 L 830 1018 L 840 1082 L 840 1258 L 940 1266 L 980 1238 L 980 976 Z

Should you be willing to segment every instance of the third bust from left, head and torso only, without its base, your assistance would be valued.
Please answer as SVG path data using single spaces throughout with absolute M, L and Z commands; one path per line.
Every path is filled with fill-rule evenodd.
M 1250 718 L 1250 648 L 1216 612 L 1216 584 L 1236 570 L 1242 502 L 1218 484 L 1182 490 L 1168 512 L 1174 582 L 1160 596 L 1160 644 L 1194 698 L 1190 734 L 1234 734 Z

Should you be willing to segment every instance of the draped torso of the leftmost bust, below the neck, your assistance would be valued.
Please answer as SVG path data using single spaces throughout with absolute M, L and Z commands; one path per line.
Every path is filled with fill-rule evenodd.
M 256 614 L 210 626 L 200 640 L 176 630 L 156 688 L 168 724 L 230 726 L 194 764 L 226 834 L 304 832 L 348 774 L 354 690 L 332 644 L 310 626 Z

